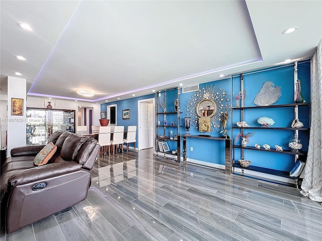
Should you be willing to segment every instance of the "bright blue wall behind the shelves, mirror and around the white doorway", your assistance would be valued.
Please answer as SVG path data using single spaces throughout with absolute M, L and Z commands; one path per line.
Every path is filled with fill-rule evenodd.
M 302 87 L 302 96 L 306 100 L 306 102 L 310 102 L 310 61 L 300 61 L 298 62 L 298 78 L 301 80 Z M 275 66 L 270 68 L 265 68 L 261 70 L 256 70 L 252 72 L 244 73 L 244 88 L 246 89 L 246 99 L 245 106 L 256 106 L 254 104 L 254 99 L 256 94 L 260 91 L 263 86 L 263 83 L 266 81 L 271 81 L 276 86 L 281 87 L 282 95 L 279 100 L 274 104 L 289 104 L 294 103 L 294 70 L 293 65 L 283 65 L 283 66 Z M 222 89 L 227 90 L 230 95 L 231 105 L 236 106 L 236 100 L 234 99 L 235 95 L 240 91 L 240 75 L 232 76 L 232 80 L 230 78 L 218 80 L 218 81 L 210 81 L 207 83 L 202 83 L 199 85 L 199 88 L 215 85 L 216 87 L 220 87 Z M 181 91 L 182 92 L 182 91 Z M 184 117 L 189 116 L 187 112 L 187 99 L 191 98 L 194 92 L 181 93 L 180 94 L 180 110 L 181 110 L 181 119 L 180 119 L 180 133 L 184 135 L 186 133 Z M 175 111 L 174 101 L 177 98 L 177 91 L 167 92 L 167 111 Z M 117 125 L 119 126 L 137 126 L 137 101 L 141 99 L 147 98 L 155 98 L 155 94 L 104 103 L 101 105 L 101 110 L 106 111 L 106 106 L 110 104 L 117 104 Z M 161 97 L 163 98 L 163 93 Z M 240 102 L 239 102 L 240 104 Z M 159 111 L 163 112 L 163 108 L 159 105 Z M 130 109 L 130 119 L 122 119 L 122 109 Z M 310 108 L 309 106 L 301 106 L 299 107 L 299 119 L 304 124 L 304 127 L 309 127 L 309 115 Z M 234 141 L 234 144 L 240 145 L 240 140 L 235 141 L 236 136 L 240 133 L 240 129 L 231 129 L 231 126 L 236 126 L 236 122 L 240 121 L 240 110 L 235 109 L 229 113 L 229 121 L 227 124 L 227 130 L 229 131 L 228 136 L 231 140 Z M 247 109 L 244 113 L 245 121 L 253 127 L 259 127 L 260 125 L 257 123 L 257 119 L 262 116 L 271 117 L 274 119 L 275 124 L 274 127 L 290 127 L 293 119 L 294 112 L 291 107 L 282 107 L 282 108 L 258 108 L 258 109 Z M 164 119 L 163 115 L 158 116 L 160 121 L 160 125 L 163 125 Z M 166 121 L 168 125 L 171 122 L 177 122 L 176 115 L 171 116 L 167 115 Z M 160 128 L 161 129 L 161 128 Z M 167 132 L 170 130 L 167 128 Z M 221 137 L 220 134 L 221 129 L 218 128 L 217 131 L 211 133 L 203 133 L 207 135 L 211 135 L 213 137 Z M 245 133 L 252 130 L 245 130 Z M 285 149 L 288 148 L 289 139 L 293 137 L 293 130 L 254 130 L 256 133 L 253 137 L 250 138 L 250 143 L 248 146 L 255 146 L 255 143 L 263 146 L 264 144 L 268 144 L 271 148 L 275 149 L 275 145 L 282 146 Z M 157 133 L 158 135 L 163 135 L 162 133 Z M 190 129 L 191 135 L 199 135 L 200 132 L 195 129 L 193 126 Z M 167 133 L 169 136 L 169 133 Z M 175 134 L 174 134 L 175 135 Z M 309 138 L 308 131 L 300 131 L 299 138 L 303 142 L 302 151 L 307 151 L 307 143 Z M 176 143 L 168 142 L 171 151 L 175 150 Z M 182 145 L 182 144 L 181 144 Z M 193 147 L 193 151 L 190 151 L 190 147 Z M 272 152 L 260 152 L 260 151 L 252 151 L 252 150 L 244 150 L 245 156 L 244 159 L 248 159 L 252 161 L 252 165 L 258 167 L 265 167 L 270 169 L 282 170 L 282 171 L 290 171 L 292 166 L 294 165 L 294 156 L 288 154 L 280 154 L 280 153 L 272 153 Z M 240 157 L 240 149 L 234 149 L 232 152 L 232 156 L 234 160 L 241 159 Z M 217 140 L 204 140 L 204 139 L 195 139 L 188 138 L 187 141 L 187 158 L 221 164 L 224 165 L 224 142 Z

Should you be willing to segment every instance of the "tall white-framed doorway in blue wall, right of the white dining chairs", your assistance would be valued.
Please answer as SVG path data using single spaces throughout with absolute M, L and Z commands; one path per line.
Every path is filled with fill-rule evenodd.
M 149 149 L 154 146 L 155 99 L 137 101 L 138 116 L 138 149 Z

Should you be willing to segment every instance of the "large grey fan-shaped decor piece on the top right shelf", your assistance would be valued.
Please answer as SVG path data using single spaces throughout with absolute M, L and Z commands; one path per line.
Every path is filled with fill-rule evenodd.
M 281 87 L 274 86 L 274 83 L 271 81 L 266 81 L 260 92 L 256 94 L 254 104 L 259 106 L 271 105 L 274 104 L 281 95 Z

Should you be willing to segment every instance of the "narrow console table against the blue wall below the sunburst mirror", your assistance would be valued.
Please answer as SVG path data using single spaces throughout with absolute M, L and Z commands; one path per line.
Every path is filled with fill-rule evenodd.
M 179 137 L 178 137 L 179 138 Z M 182 135 L 183 138 L 183 162 L 187 162 L 187 141 L 188 138 L 200 138 L 207 140 L 217 140 L 225 142 L 225 173 L 231 174 L 232 161 L 231 161 L 231 140 L 224 137 L 205 137 L 205 136 L 191 136 Z M 178 146 L 178 153 L 180 153 L 180 145 Z

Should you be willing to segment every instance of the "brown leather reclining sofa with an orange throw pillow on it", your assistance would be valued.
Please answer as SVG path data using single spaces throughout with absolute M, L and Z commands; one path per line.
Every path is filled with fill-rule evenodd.
M 95 139 L 55 132 L 57 151 L 43 166 L 34 164 L 44 145 L 11 150 L 1 168 L 1 225 L 7 233 L 86 199 L 100 145 Z

